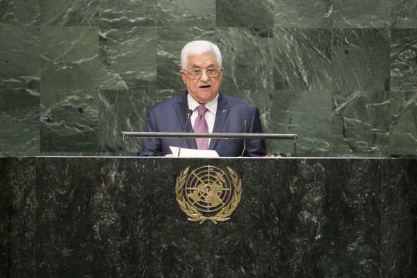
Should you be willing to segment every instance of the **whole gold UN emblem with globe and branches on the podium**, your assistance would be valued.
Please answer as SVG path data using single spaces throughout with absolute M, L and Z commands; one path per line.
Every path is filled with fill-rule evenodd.
M 200 224 L 206 220 L 215 224 L 229 220 L 242 197 L 242 181 L 236 172 L 229 167 L 224 172 L 209 165 L 190 174 L 189 170 L 190 166 L 181 172 L 175 183 L 177 202 L 188 220 Z

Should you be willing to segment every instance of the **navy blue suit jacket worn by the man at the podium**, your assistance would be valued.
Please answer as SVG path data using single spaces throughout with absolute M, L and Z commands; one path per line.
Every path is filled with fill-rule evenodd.
M 161 101 L 149 108 L 145 131 L 148 132 L 183 132 L 187 120 L 188 101 L 186 92 L 183 95 Z M 244 133 L 247 120 L 247 133 L 263 133 L 259 110 L 252 104 L 222 95 L 219 92 L 218 108 L 215 116 L 213 133 Z M 186 132 L 193 132 L 188 122 Z M 172 154 L 170 146 L 178 147 L 181 138 L 145 138 L 139 156 L 165 156 Z M 208 149 L 214 149 L 222 157 L 241 156 L 242 139 L 211 139 Z M 197 149 L 194 138 L 184 138 L 184 148 Z M 243 156 L 264 156 L 265 140 L 247 140 Z

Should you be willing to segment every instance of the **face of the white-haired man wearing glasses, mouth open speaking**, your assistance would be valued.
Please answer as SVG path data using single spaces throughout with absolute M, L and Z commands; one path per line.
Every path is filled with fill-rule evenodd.
M 185 70 L 181 70 L 181 76 L 186 84 L 188 93 L 199 104 L 206 104 L 212 101 L 220 90 L 222 81 L 223 68 L 218 68 L 218 61 L 213 53 L 207 53 L 197 56 L 188 56 L 187 67 L 185 70 L 201 70 L 199 77 L 193 77 Z M 219 70 L 217 76 L 207 76 L 206 70 L 215 67 Z

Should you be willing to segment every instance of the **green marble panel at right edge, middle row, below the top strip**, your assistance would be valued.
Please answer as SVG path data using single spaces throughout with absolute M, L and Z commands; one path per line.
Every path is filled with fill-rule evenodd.
M 417 92 L 417 29 L 391 29 L 391 91 Z

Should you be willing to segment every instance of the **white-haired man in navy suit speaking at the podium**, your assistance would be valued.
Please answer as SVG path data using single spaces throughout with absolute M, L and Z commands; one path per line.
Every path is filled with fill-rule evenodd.
M 145 131 L 262 133 L 259 110 L 252 104 L 220 93 L 222 56 L 212 42 L 189 42 L 181 51 L 180 71 L 186 92 L 149 108 Z M 187 113 L 190 123 L 186 126 Z M 200 112 L 199 112 L 200 111 Z M 201 112 L 202 111 L 202 112 Z M 204 112 L 205 111 L 205 112 Z M 203 131 L 202 131 L 203 130 Z M 145 138 L 139 156 L 172 156 L 170 146 L 178 147 L 180 138 Z M 198 141 L 196 143 L 196 141 Z M 265 156 L 264 140 L 185 138 L 182 147 L 212 149 L 222 157 Z

